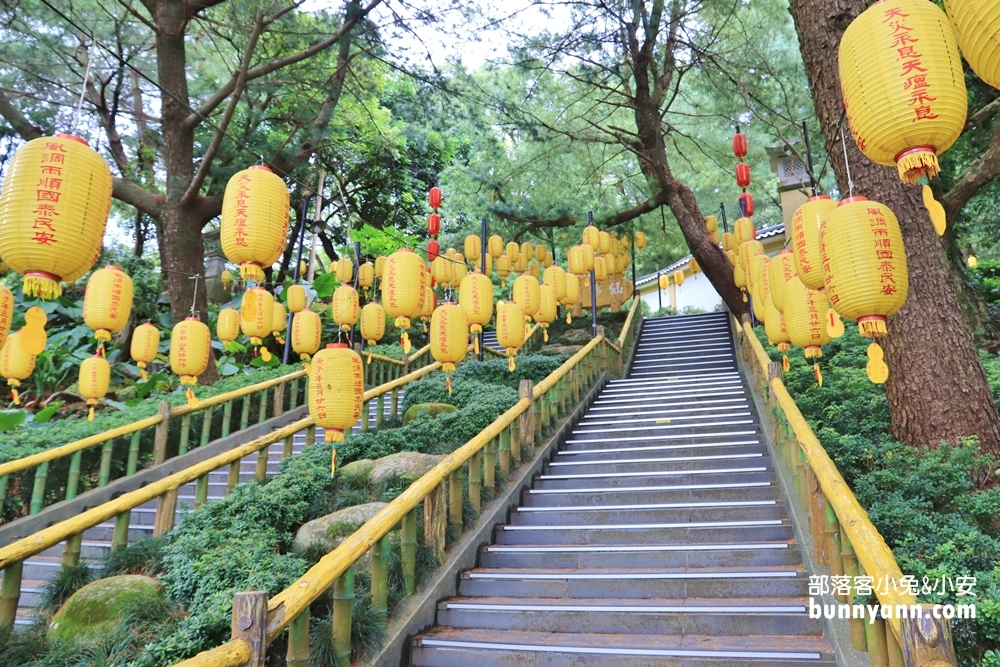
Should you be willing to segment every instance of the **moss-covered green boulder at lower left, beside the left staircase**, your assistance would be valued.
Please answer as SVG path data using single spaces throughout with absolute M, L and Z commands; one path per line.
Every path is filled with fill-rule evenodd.
M 152 577 L 123 574 L 89 583 L 70 597 L 49 623 L 49 637 L 71 642 L 78 636 L 102 631 L 122 615 L 163 595 Z

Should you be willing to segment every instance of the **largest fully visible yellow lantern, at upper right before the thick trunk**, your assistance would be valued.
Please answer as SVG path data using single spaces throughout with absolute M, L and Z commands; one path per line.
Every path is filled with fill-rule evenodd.
M 982 30 L 996 32 L 995 26 Z M 844 31 L 840 83 L 858 148 L 873 162 L 896 165 L 903 182 L 922 183 L 924 205 L 944 234 L 944 209 L 929 182 L 941 171 L 937 156 L 962 134 L 968 112 L 947 15 L 930 0 L 872 5 Z

